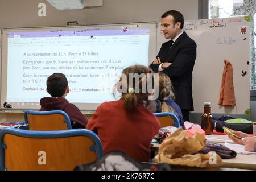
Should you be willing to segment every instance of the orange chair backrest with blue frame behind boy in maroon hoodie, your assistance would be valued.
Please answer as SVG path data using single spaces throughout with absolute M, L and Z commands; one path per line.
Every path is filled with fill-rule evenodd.
M 72 129 L 68 114 L 62 110 L 26 110 L 24 113 L 24 118 L 25 122 L 28 123 L 30 130 L 54 131 Z

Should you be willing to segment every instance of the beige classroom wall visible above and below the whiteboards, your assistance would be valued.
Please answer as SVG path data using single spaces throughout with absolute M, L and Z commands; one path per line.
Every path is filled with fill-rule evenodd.
M 38 16 L 38 4 L 46 3 L 46 17 Z M 198 0 L 103 0 L 102 7 L 82 10 L 57 10 L 46 0 L 0 0 L 0 28 L 65 26 L 68 21 L 80 25 L 160 21 L 164 11 L 181 11 L 185 20 L 198 19 Z M 256 101 L 251 101 L 253 114 L 233 115 L 256 121 Z M 202 105 L 203 112 L 203 105 Z M 86 115 L 90 118 L 91 115 Z M 216 117 L 222 116 L 214 115 Z M 191 121 L 200 123 L 201 113 L 190 115 Z M 23 113 L 0 113 L 2 121 L 23 121 Z

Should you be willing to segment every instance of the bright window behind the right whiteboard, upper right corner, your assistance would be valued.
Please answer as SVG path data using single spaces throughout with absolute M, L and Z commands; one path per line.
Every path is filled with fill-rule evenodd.
M 251 16 L 251 90 L 256 90 L 255 45 L 256 45 L 256 2 L 255 0 L 209 0 L 209 19 L 228 18 L 237 15 Z

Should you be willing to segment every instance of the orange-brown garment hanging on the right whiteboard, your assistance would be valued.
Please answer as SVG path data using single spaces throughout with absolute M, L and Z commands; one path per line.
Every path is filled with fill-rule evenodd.
M 236 98 L 233 85 L 233 68 L 229 61 L 224 60 L 224 63 L 225 65 L 222 73 L 220 99 L 218 100 L 218 105 L 234 107 L 236 105 Z

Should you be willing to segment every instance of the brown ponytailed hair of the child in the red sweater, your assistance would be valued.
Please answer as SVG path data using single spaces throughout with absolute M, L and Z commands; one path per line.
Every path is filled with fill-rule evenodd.
M 138 103 L 143 103 L 143 101 L 146 101 L 146 107 L 151 111 L 156 109 L 155 102 L 148 100 L 148 96 L 152 94 L 150 92 L 154 90 L 154 76 L 148 73 L 153 75 L 153 71 L 144 65 L 134 65 L 123 69 L 124 77 L 121 76 L 116 86 L 122 89 L 122 99 L 126 110 L 133 110 Z M 136 76 L 139 79 L 135 78 Z

